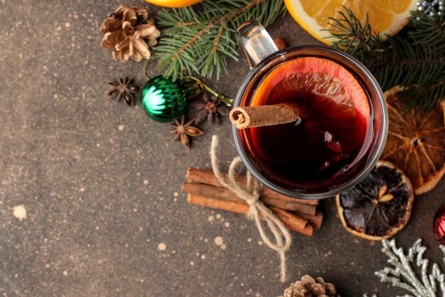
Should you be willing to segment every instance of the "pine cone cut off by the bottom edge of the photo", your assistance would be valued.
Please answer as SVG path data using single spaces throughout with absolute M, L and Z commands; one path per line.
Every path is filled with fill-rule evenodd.
M 284 297 L 340 297 L 332 283 L 325 283 L 323 278 L 303 276 L 301 281 L 291 283 L 284 291 Z

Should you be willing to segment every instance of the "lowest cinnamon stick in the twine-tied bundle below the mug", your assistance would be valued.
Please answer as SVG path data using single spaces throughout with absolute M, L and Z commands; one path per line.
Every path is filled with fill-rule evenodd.
M 213 199 L 196 194 L 188 194 L 187 202 L 203 207 L 235 212 L 237 214 L 247 214 L 249 212 L 249 205 L 247 205 L 246 203 Z M 291 212 L 286 212 L 285 210 L 277 209 L 276 207 L 270 207 L 270 209 L 288 229 L 299 232 L 300 234 L 304 234 L 306 236 L 312 236 L 313 226 L 311 224 L 308 224 L 308 221 L 306 219 L 301 219 Z

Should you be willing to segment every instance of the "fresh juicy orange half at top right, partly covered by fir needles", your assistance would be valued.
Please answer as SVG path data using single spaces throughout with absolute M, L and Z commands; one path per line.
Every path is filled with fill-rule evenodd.
M 409 11 L 417 9 L 417 0 L 284 0 L 291 16 L 319 41 L 330 44 L 328 31 L 330 17 L 340 19 L 342 5 L 353 11 L 353 14 L 363 24 L 368 14 L 368 22 L 372 31 L 395 35 L 407 24 Z

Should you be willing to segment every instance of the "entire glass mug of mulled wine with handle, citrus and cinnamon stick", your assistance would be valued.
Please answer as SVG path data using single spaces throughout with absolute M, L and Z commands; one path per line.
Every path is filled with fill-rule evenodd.
M 328 46 L 277 50 L 257 21 L 237 28 L 252 67 L 230 110 L 247 170 L 289 197 L 333 197 L 360 182 L 382 154 L 388 114 L 377 80 Z

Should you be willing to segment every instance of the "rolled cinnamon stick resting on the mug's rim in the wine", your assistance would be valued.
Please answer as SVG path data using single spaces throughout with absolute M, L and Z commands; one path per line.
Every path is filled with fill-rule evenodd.
M 230 110 L 230 121 L 238 129 L 280 125 L 304 117 L 300 106 L 294 103 L 237 107 Z

